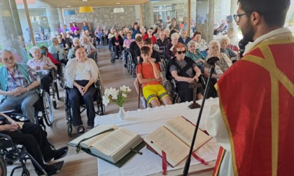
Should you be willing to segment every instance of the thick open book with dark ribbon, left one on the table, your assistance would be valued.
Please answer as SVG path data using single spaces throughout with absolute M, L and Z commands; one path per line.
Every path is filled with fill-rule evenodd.
M 100 134 L 97 135 L 98 133 Z M 84 140 L 86 138 L 89 139 Z M 81 140 L 84 141 L 80 142 Z M 123 166 L 123 163 L 144 147 L 144 142 L 139 134 L 113 125 L 95 126 L 94 129 L 71 140 L 68 145 L 78 147 L 78 143 L 83 151 L 118 167 Z

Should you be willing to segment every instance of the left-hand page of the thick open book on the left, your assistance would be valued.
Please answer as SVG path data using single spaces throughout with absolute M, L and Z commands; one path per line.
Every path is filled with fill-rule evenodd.
M 93 135 L 96 135 L 97 133 L 101 133 L 102 131 L 106 131 L 108 129 L 118 129 L 118 126 L 115 125 L 98 125 L 95 126 L 92 130 L 87 131 L 87 133 L 84 133 L 83 135 L 80 135 L 78 138 L 71 140 L 71 142 L 69 142 L 69 145 L 75 146 L 78 145 L 78 142 L 80 142 L 80 140 L 83 140 L 85 138 L 90 138 Z M 89 140 L 85 140 L 82 142 L 82 146 L 83 147 L 90 147 L 94 141 L 97 140 L 101 140 L 101 138 L 103 138 L 106 134 L 101 134 L 101 135 L 97 135 L 94 136 L 93 138 L 90 138 Z

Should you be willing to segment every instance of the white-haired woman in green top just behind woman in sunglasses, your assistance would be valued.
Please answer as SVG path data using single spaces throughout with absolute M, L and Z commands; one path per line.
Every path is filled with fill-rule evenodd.
M 201 73 L 204 73 L 204 59 L 205 57 L 196 50 L 196 42 L 195 41 L 190 41 L 188 43 L 188 52 L 186 52 L 186 57 L 190 57 L 195 61 L 196 65 L 198 68 L 200 68 Z

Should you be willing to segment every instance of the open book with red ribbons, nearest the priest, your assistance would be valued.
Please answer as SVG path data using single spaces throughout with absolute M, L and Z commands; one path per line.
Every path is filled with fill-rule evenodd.
M 160 126 L 144 138 L 144 141 L 148 148 L 151 147 L 160 156 L 162 156 L 162 151 L 165 152 L 167 163 L 174 167 L 188 156 L 194 131 L 195 126 L 193 124 L 178 116 L 170 119 L 164 126 Z M 211 136 L 198 130 L 193 152 L 210 139 Z

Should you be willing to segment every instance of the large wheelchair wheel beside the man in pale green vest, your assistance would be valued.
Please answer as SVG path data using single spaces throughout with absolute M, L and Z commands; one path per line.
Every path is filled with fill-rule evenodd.
M 42 97 L 45 123 L 47 124 L 47 126 L 51 126 L 53 122 L 52 101 L 47 91 L 42 92 Z

